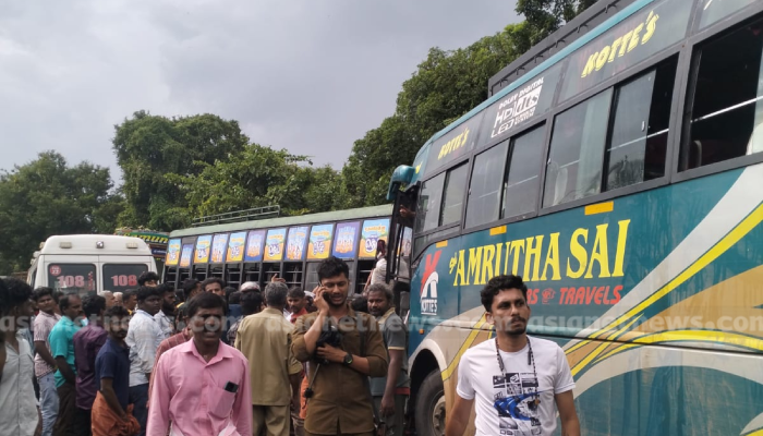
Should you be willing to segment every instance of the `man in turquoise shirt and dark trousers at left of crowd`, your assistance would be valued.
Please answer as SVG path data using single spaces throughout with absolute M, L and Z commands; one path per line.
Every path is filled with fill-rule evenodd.
M 56 389 L 59 410 L 53 435 L 80 434 L 76 420 L 76 368 L 74 366 L 74 334 L 82 328 L 82 299 L 77 294 L 59 300 L 63 315 L 50 331 L 50 354 L 56 360 Z

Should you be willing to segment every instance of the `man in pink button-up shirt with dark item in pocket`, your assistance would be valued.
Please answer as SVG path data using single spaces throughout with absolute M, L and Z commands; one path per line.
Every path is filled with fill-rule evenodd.
M 250 436 L 249 363 L 220 341 L 225 301 L 205 292 L 187 305 L 193 339 L 168 350 L 154 368 L 148 435 Z

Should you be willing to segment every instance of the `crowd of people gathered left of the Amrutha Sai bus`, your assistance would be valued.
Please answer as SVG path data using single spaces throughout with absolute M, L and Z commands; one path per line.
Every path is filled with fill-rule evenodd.
M 0 435 L 401 435 L 405 329 L 387 283 L 274 277 L 123 294 L 0 281 Z M 360 310 L 355 310 L 355 307 Z

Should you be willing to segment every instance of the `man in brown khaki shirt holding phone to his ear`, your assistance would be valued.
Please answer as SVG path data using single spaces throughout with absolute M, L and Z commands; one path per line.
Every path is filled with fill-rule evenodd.
M 294 356 L 308 362 L 306 435 L 372 435 L 375 429 L 368 377 L 387 374 L 387 349 L 376 320 L 349 306 L 349 272 L 339 258 L 323 261 L 315 290 L 318 312 L 294 326 Z

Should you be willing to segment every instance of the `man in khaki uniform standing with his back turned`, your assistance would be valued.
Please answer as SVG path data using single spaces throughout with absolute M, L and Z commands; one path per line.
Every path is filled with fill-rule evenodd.
M 250 362 L 254 435 L 289 436 L 289 409 L 300 410 L 302 364 L 292 354 L 293 327 L 283 317 L 288 291 L 281 282 L 268 283 L 267 308 L 242 319 L 235 335 L 235 348 Z

